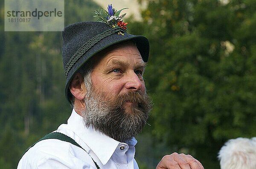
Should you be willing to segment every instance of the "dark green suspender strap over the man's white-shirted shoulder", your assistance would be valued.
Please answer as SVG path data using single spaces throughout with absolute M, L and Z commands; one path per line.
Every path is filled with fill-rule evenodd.
M 79 144 L 76 143 L 75 140 L 73 140 L 73 139 L 70 138 L 69 136 L 64 135 L 64 134 L 62 134 L 62 133 L 60 133 L 60 132 L 51 132 L 51 133 L 45 135 L 45 136 L 44 136 L 43 138 L 41 138 L 40 140 L 38 140 L 37 142 L 35 142 L 32 146 L 34 146 L 34 145 L 35 145 L 36 143 L 38 143 L 39 141 L 46 140 L 46 139 L 58 139 L 58 140 L 61 140 L 61 141 L 66 141 L 66 142 L 69 142 L 69 143 L 71 143 L 71 144 L 73 144 L 73 145 L 75 145 L 75 146 L 78 146 L 78 147 L 80 147 L 81 149 L 83 149 Z M 23 153 L 23 155 L 24 155 L 32 146 L 30 146 L 28 149 L 26 149 L 26 151 Z M 83 149 L 83 150 L 85 151 L 85 149 Z M 85 151 L 85 152 L 87 152 L 87 151 Z M 88 152 L 87 152 L 87 154 L 89 155 Z M 22 156 L 23 156 L 23 155 L 22 155 Z M 22 157 L 22 156 L 21 156 L 21 157 Z M 91 158 L 92 158 L 92 157 L 91 157 Z M 92 160 L 93 160 L 93 158 L 92 158 Z M 93 160 L 93 162 L 94 162 L 95 166 L 97 167 L 97 169 L 100 169 L 99 166 L 98 166 L 98 164 L 97 164 L 94 160 Z

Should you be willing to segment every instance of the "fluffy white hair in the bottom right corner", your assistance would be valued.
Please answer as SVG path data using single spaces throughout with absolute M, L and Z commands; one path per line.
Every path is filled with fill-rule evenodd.
M 218 153 L 221 169 L 256 169 L 256 137 L 227 141 Z

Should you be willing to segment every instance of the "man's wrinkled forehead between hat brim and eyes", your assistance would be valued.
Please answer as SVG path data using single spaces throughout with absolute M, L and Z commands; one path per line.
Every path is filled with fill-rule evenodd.
M 111 46 L 105 51 L 100 52 L 97 56 L 93 57 L 93 60 L 94 67 L 96 65 L 107 65 L 115 62 L 118 63 L 118 61 L 138 64 L 144 63 L 139 50 L 132 42 Z

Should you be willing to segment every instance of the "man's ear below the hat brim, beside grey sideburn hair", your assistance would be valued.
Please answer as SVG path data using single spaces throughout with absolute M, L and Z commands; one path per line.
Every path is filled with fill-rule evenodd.
M 83 100 L 86 94 L 86 88 L 84 85 L 84 77 L 81 73 L 76 73 L 69 85 L 70 92 L 78 100 Z

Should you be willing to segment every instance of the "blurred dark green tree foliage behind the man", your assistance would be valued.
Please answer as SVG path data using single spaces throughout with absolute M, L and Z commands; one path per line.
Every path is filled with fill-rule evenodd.
M 184 152 L 218 169 L 225 141 L 256 136 L 256 0 L 143 1 L 143 20 L 125 20 L 151 44 L 145 82 L 154 109 L 138 136 L 139 166 L 151 169 L 163 155 Z M 13 169 L 71 110 L 61 32 L 4 32 L 0 4 L 0 168 Z M 66 0 L 65 25 L 94 20 L 97 7 Z

